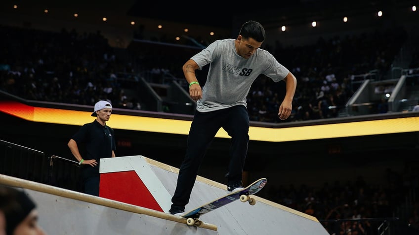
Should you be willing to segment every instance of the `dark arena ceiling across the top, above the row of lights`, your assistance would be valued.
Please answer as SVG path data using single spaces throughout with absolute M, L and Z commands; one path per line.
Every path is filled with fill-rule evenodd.
M 161 19 L 177 23 L 232 29 L 244 20 L 257 20 L 265 28 L 278 22 L 307 21 L 314 18 L 326 18 L 345 14 L 361 14 L 378 9 L 411 7 L 416 0 L 276 0 L 252 4 L 237 1 L 143 1 L 143 0 L 2 0 L 0 12 L 12 12 L 12 6 L 25 14 L 42 12 L 53 8 L 61 15 L 83 12 L 91 17 L 103 14 L 113 16 L 134 16 L 149 19 Z M 51 11 L 52 12 L 52 11 Z M 82 15 L 82 14 L 81 14 Z M 57 15 L 59 17 L 59 15 Z M 288 23 L 289 24 L 289 23 Z

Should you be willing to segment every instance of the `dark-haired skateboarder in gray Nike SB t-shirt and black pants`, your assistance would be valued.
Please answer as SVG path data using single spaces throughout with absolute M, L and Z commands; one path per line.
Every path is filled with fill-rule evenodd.
M 285 120 L 290 116 L 296 79 L 273 55 L 259 48 L 264 40 L 263 26 L 248 21 L 242 25 L 237 39 L 216 40 L 183 65 L 183 73 L 189 83 L 189 95 L 197 101 L 197 110 L 189 130 L 176 190 L 171 199 L 170 214 L 183 214 L 205 152 L 220 128 L 231 136 L 227 190 L 243 188 L 242 172 L 250 125 L 246 98 L 251 84 L 260 74 L 275 82 L 285 81 L 286 94 L 279 107 L 278 117 Z M 201 87 L 195 70 L 208 64 L 207 81 Z

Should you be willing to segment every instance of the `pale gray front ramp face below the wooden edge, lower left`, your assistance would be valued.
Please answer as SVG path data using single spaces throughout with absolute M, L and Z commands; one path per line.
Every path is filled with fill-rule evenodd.
M 26 189 L 37 202 L 39 224 L 48 235 L 217 235 L 146 214 Z

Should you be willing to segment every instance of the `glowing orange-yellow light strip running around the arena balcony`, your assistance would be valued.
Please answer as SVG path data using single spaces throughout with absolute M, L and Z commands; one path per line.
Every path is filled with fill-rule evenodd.
M 15 101 L 0 101 L 0 111 L 33 122 L 82 126 L 92 122 L 91 112 L 33 107 Z M 114 129 L 187 135 L 191 121 L 112 114 Z M 251 140 L 284 142 L 375 134 L 419 132 L 419 116 L 372 121 L 288 128 L 250 127 Z M 220 129 L 215 137 L 230 138 Z

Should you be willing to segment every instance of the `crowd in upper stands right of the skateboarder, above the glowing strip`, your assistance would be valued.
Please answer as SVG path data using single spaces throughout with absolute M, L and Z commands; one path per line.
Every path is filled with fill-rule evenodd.
M 406 41 L 403 28 L 364 34 L 319 38 L 313 45 L 274 47 L 274 56 L 297 78 L 293 113 L 289 122 L 337 117 L 355 92 L 352 76 L 379 70 L 383 79 Z M 262 44 L 263 45 L 263 44 Z M 249 101 L 251 120 L 280 122 L 278 107 L 284 84 L 261 76 L 254 83 Z

